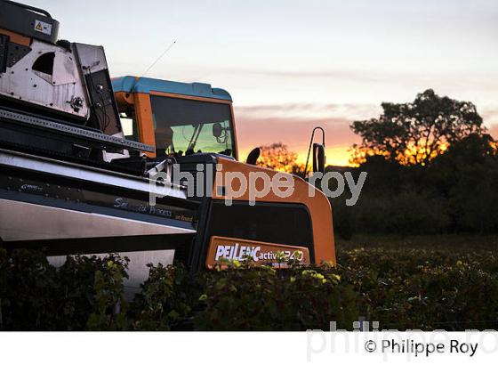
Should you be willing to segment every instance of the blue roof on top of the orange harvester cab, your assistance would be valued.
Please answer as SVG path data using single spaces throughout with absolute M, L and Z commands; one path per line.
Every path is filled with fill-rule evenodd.
M 213 88 L 209 84 L 180 83 L 149 77 L 140 77 L 138 80 L 133 76 L 116 77 L 112 79 L 112 88 L 115 93 L 178 93 L 181 95 L 232 101 L 227 91 Z

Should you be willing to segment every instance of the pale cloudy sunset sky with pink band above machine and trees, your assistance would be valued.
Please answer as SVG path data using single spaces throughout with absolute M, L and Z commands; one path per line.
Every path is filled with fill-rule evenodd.
M 313 126 L 346 165 L 353 120 L 433 88 L 473 101 L 498 137 L 498 1 L 27 0 L 60 37 L 104 45 L 111 75 L 205 82 L 231 93 L 243 152 L 284 142 L 306 158 Z

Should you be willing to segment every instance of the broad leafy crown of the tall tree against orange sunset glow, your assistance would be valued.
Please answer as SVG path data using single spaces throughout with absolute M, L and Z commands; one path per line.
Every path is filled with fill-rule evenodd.
M 382 110 L 380 118 L 350 126 L 362 138 L 361 145 L 353 146 L 352 162 L 382 155 L 403 165 L 426 166 L 452 143 L 486 131 L 473 103 L 440 97 L 432 89 L 413 102 L 383 102 Z

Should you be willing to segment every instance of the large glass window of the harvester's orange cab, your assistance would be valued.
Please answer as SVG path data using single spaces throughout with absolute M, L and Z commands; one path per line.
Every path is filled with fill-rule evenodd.
M 150 95 L 157 156 L 213 152 L 233 156 L 230 105 Z

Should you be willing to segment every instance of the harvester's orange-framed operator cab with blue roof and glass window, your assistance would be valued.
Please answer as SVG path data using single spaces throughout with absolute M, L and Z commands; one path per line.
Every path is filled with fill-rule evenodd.
M 155 146 L 150 158 L 194 153 L 238 158 L 232 99 L 225 90 L 129 76 L 112 84 L 125 137 Z

